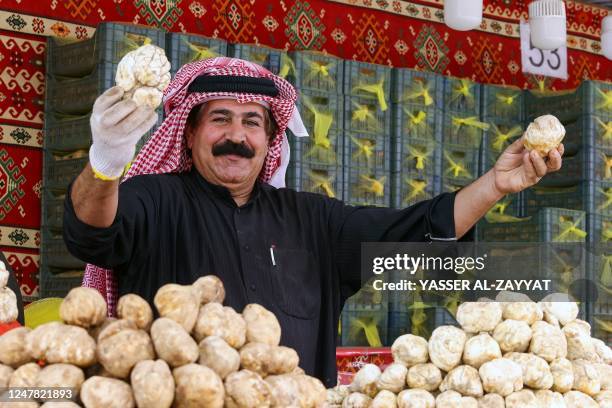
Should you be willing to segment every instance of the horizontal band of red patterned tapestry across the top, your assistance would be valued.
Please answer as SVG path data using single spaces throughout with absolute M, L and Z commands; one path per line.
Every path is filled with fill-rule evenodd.
M 85 38 L 101 21 L 147 24 L 229 42 L 286 50 L 311 49 L 345 59 L 471 77 L 479 82 L 535 87 L 543 78 L 520 67 L 519 20 L 527 0 L 485 0 L 479 30 L 443 24 L 443 0 L 4 0 L 0 27 Z M 547 79 L 551 89 L 574 88 L 584 78 L 611 80 L 600 54 L 603 8 L 566 1 L 569 79 Z

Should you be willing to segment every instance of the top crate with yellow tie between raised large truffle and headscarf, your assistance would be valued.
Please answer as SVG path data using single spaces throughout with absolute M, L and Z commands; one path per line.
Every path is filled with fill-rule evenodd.
M 174 74 L 185 64 L 226 56 L 227 42 L 197 34 L 167 33 L 166 55 L 170 60 L 170 72 L 174 78 Z

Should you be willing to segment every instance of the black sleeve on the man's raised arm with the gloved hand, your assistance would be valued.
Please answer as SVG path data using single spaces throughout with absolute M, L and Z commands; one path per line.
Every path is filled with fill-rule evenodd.
M 75 257 L 104 268 L 115 268 L 132 260 L 134 254 L 150 245 L 156 205 L 151 184 L 134 177 L 119 187 L 119 205 L 113 224 L 107 228 L 88 225 L 78 219 L 70 197 L 64 201 L 63 236 Z

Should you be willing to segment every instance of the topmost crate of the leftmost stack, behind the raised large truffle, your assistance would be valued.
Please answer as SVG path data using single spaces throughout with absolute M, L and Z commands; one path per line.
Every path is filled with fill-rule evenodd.
M 128 23 L 100 23 L 93 38 L 67 43 L 47 40 L 47 73 L 52 76 L 82 77 L 102 62 L 118 63 L 129 51 L 150 42 L 166 46 L 166 33 L 152 27 Z

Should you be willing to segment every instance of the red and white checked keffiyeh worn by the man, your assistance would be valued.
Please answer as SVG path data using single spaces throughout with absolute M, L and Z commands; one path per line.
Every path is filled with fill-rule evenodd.
M 189 84 L 201 75 L 268 78 L 274 81 L 279 93 L 275 97 L 235 92 L 188 93 Z M 278 132 L 270 145 L 259 179 L 276 187 L 284 187 L 285 171 L 289 161 L 289 145 L 285 130 L 289 127 L 297 136 L 307 136 L 295 106 L 297 92 L 289 82 L 267 69 L 248 61 L 227 57 L 196 61 L 181 67 L 164 92 L 165 120 L 138 153 L 122 181 L 142 174 L 178 173 L 190 170 L 192 161 L 187 153 L 187 141 L 184 137 L 187 116 L 196 105 L 222 96 L 236 99 L 240 103 L 263 101 L 270 106 L 272 116 L 278 125 Z M 109 315 L 115 315 L 118 286 L 111 270 L 88 264 L 83 286 L 97 289 L 106 299 Z

